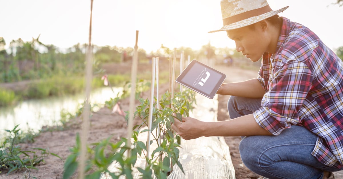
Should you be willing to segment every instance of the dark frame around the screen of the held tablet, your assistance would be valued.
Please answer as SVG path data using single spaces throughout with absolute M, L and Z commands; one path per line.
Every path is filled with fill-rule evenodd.
M 219 81 L 218 81 L 217 84 L 214 86 L 214 88 L 213 88 L 213 90 L 211 91 L 211 93 L 205 93 L 204 91 L 201 91 L 201 90 L 199 90 L 199 89 L 197 89 L 197 88 L 194 88 L 193 86 L 191 86 L 191 85 L 189 85 L 189 84 L 186 84 L 185 82 L 182 82 L 182 81 L 181 81 L 181 79 L 183 79 L 183 78 L 185 77 L 185 75 L 188 73 L 188 71 L 189 71 L 189 70 L 194 66 L 194 64 L 196 64 L 196 63 L 197 63 L 197 64 L 200 64 L 201 66 L 203 66 L 203 67 L 205 67 L 205 68 L 209 68 L 209 69 L 211 69 L 212 71 L 214 71 L 214 72 L 216 72 L 216 73 L 218 73 L 218 74 L 221 75 Z M 216 69 L 214 69 L 214 68 L 212 68 L 212 67 L 209 67 L 209 66 L 207 66 L 207 65 L 205 65 L 205 64 L 203 64 L 203 63 L 201 63 L 201 62 L 199 62 L 199 61 L 197 61 L 197 60 L 192 60 L 192 61 L 188 64 L 188 66 L 184 69 L 184 71 L 182 71 L 182 73 L 176 78 L 175 81 L 176 81 L 178 84 L 181 84 L 181 85 L 183 85 L 183 86 L 185 86 L 185 87 L 187 87 L 187 88 L 189 88 L 189 89 L 191 89 L 191 90 L 193 90 L 193 91 L 196 91 L 196 92 L 198 92 L 198 93 L 204 95 L 204 96 L 207 97 L 207 98 L 213 99 L 213 98 L 214 98 L 214 95 L 217 93 L 218 89 L 219 89 L 220 86 L 223 84 L 225 78 L 226 78 L 226 75 L 225 75 L 224 73 L 219 72 L 219 71 L 217 71 Z

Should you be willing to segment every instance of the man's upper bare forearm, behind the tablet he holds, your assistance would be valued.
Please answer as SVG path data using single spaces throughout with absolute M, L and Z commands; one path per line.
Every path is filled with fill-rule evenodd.
M 262 98 L 265 90 L 257 78 L 241 82 L 222 84 L 218 94 L 240 96 L 247 98 Z

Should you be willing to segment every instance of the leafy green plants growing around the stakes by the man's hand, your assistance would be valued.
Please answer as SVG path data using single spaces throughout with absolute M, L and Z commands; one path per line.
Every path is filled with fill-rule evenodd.
M 118 99 L 121 97 L 117 96 Z M 178 161 L 180 147 L 180 136 L 173 133 L 171 129 L 171 123 L 174 122 L 173 114 L 176 114 L 178 120 L 181 120 L 182 116 L 188 116 L 189 110 L 192 109 L 192 104 L 195 102 L 195 94 L 191 90 L 185 90 L 183 92 L 176 93 L 173 99 L 170 101 L 170 93 L 162 95 L 162 99 L 159 101 L 161 109 L 157 110 L 156 98 L 154 106 L 150 109 L 150 101 L 148 99 L 139 98 L 140 105 L 136 107 L 134 112 L 135 116 L 141 118 L 142 123 L 133 127 L 132 139 L 129 157 L 126 155 L 128 148 L 126 142 L 128 139 L 121 138 L 116 143 L 110 142 L 111 137 L 102 140 L 98 143 L 91 144 L 92 147 L 87 146 L 87 160 L 86 160 L 86 178 L 99 178 L 101 173 L 108 175 L 112 178 L 119 178 L 125 176 L 126 178 L 132 178 L 132 167 L 137 161 L 137 157 L 145 157 L 147 166 L 145 168 L 136 167 L 141 173 L 142 178 L 152 179 L 167 178 L 169 172 L 172 170 L 173 165 L 177 165 L 181 171 L 184 172 L 181 163 Z M 153 111 L 152 121 L 152 136 L 153 140 L 144 143 L 138 140 L 138 135 L 148 130 L 140 131 L 141 127 L 147 125 L 148 115 L 150 110 Z M 126 120 L 128 114 L 126 115 Z M 157 130 L 157 128 L 161 130 Z M 136 130 L 137 129 L 137 130 Z M 160 136 L 163 136 L 161 139 Z M 161 143 L 158 141 L 161 140 Z M 158 147 L 152 152 L 151 156 L 147 156 L 146 145 L 151 145 L 153 142 L 157 142 Z M 71 155 L 68 156 L 64 164 L 63 178 L 70 178 L 79 166 L 77 158 L 80 155 L 80 137 L 76 136 L 76 145 L 70 150 Z M 116 170 L 109 171 L 108 167 L 112 163 L 115 163 Z M 173 165 L 170 166 L 170 163 Z M 92 170 L 91 170 L 92 169 Z

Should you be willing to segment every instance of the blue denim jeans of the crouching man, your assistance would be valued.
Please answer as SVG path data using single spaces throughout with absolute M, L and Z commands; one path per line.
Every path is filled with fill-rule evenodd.
M 261 98 L 231 96 L 230 118 L 252 114 L 261 107 Z M 267 178 L 321 179 L 323 171 L 339 171 L 311 155 L 317 136 L 301 126 L 285 129 L 279 136 L 245 136 L 239 152 L 245 166 Z

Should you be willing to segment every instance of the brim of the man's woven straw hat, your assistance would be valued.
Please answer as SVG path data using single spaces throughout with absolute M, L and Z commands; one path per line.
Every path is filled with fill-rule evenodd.
M 277 11 L 270 11 L 270 12 L 267 12 L 267 13 L 264 13 L 264 14 L 261 14 L 261 15 L 258 15 L 258 16 L 253 16 L 253 17 L 247 18 L 245 20 L 229 24 L 229 25 L 224 25 L 221 29 L 209 31 L 209 33 L 214 33 L 214 32 L 219 32 L 219 31 L 224 31 L 224 30 L 232 30 L 232 29 L 237 29 L 237 28 L 245 27 L 245 26 L 257 23 L 259 21 L 265 20 L 266 18 L 269 18 L 269 17 L 271 17 L 273 15 L 276 15 L 276 14 L 278 14 L 280 12 L 283 12 L 288 7 L 289 6 L 284 7 L 282 9 L 279 9 Z

